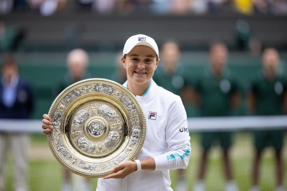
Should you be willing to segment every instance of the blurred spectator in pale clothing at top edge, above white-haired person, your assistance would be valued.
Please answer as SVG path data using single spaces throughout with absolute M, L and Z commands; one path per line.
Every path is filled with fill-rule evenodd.
M 42 16 L 51 16 L 58 10 L 62 10 L 68 0 L 27 0 L 32 9 L 39 9 Z

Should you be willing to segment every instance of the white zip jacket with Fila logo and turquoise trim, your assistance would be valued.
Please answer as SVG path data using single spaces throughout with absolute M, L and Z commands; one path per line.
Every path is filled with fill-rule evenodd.
M 127 88 L 127 82 L 123 86 Z M 136 159 L 153 158 L 155 170 L 135 171 L 123 179 L 99 178 L 97 191 L 172 190 L 169 170 L 187 167 L 190 136 L 181 98 L 153 80 L 144 95 L 136 98 L 146 116 L 146 137 Z

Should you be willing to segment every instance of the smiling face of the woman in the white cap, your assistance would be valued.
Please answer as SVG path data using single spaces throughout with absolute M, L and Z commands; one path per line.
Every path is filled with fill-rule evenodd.
M 128 81 L 137 84 L 148 83 L 159 62 L 159 59 L 156 60 L 155 51 L 144 45 L 135 46 L 126 54 L 126 59 L 121 59 L 123 67 L 126 68 Z

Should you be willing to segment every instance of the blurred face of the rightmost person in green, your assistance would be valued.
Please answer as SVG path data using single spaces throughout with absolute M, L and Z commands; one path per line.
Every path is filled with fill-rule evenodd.
M 275 49 L 267 49 L 262 55 L 264 70 L 275 71 L 279 63 L 279 54 Z

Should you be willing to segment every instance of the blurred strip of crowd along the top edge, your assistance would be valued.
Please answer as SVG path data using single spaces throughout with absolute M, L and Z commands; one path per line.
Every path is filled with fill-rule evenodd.
M 0 14 L 34 10 L 43 16 L 58 11 L 90 10 L 103 15 L 119 13 L 184 14 L 263 14 L 286 15 L 286 0 L 1 0 Z

